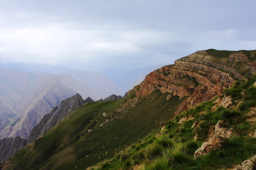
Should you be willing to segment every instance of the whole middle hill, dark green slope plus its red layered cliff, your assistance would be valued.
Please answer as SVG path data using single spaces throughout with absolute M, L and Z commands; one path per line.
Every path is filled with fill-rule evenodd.
M 86 169 L 177 113 L 223 94 L 255 72 L 254 59 L 255 51 L 195 52 L 151 72 L 123 99 L 85 104 L 6 163 L 26 170 Z

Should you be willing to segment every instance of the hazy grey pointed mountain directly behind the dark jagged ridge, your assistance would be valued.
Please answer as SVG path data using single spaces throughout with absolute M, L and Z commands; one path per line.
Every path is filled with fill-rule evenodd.
M 55 76 L 46 76 L 40 82 L 47 82 L 38 85 L 37 89 L 22 104 L 18 110 L 22 115 L 14 122 L 9 124 L 0 132 L 0 137 L 19 136 L 27 139 L 30 131 L 35 127 L 43 116 L 49 113 L 52 108 L 58 105 L 62 100 L 75 94 L 73 90 L 68 89 Z

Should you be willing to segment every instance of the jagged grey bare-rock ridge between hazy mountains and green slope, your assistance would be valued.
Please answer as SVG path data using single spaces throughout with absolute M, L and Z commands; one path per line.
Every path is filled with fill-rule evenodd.
M 53 108 L 53 110 L 46 114 L 40 123 L 34 127 L 28 136 L 27 143 L 36 140 L 39 136 L 54 127 L 59 123 L 65 116 L 70 114 L 73 110 L 81 107 L 85 101 L 82 99 L 80 94 L 75 94 L 73 97 L 69 97 L 63 100 L 59 106 Z

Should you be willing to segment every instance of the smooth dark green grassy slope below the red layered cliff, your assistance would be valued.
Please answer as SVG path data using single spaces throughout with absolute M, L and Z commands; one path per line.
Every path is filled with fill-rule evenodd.
M 136 107 L 118 112 L 126 97 L 112 102 L 91 102 L 75 110 L 43 137 L 27 145 L 9 159 L 22 170 L 73 170 L 85 169 L 157 129 L 161 121 L 174 116 L 179 97 L 166 101 L 166 94 L 155 91 L 140 99 Z M 103 117 L 103 112 L 108 117 Z M 114 120 L 104 124 L 106 119 Z M 88 129 L 93 129 L 88 133 Z M 93 149 L 92 149 L 93 148 Z M 106 154 L 107 153 L 107 154 Z M 99 159 L 100 157 L 100 159 Z M 11 168 L 11 167 L 10 167 Z

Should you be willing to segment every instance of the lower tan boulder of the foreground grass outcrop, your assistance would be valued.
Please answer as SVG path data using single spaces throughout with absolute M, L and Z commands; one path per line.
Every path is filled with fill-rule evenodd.
M 210 151 L 214 150 L 217 147 L 220 147 L 221 143 L 223 142 L 224 142 L 224 139 L 221 137 L 210 137 L 210 139 L 207 139 L 201 145 L 201 147 L 196 150 L 194 154 L 194 158 L 210 153 Z

